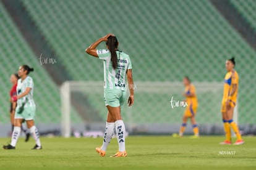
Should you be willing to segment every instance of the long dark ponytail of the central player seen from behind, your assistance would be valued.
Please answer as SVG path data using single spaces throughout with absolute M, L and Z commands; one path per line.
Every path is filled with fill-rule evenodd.
M 116 36 L 109 36 L 108 41 L 106 42 L 106 45 L 108 46 L 109 52 L 111 54 L 112 67 L 116 69 L 117 68 L 116 49 L 118 46 L 118 40 Z

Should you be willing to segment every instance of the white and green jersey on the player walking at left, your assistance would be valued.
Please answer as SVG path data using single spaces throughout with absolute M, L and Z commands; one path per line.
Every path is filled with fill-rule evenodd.
M 31 90 L 27 95 L 17 100 L 18 107 L 22 107 L 22 105 L 24 105 L 24 107 L 35 107 L 35 102 L 33 100 L 34 83 L 30 76 L 27 76 L 23 81 L 21 78 L 18 80 L 17 95 L 25 92 L 27 87 L 30 87 Z

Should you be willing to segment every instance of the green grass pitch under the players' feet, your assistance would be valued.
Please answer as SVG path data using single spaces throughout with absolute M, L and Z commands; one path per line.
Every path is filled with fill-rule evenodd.
M 106 157 L 95 147 L 102 139 L 41 138 L 43 150 L 30 150 L 21 138 L 16 150 L 0 150 L 0 169 L 255 169 L 256 137 L 244 137 L 245 144 L 219 145 L 224 137 L 200 139 L 171 136 L 130 136 L 128 156 L 109 158 L 117 151 L 116 139 L 109 144 Z M 234 139 L 235 140 L 235 139 Z M 0 139 L 7 144 L 9 139 Z

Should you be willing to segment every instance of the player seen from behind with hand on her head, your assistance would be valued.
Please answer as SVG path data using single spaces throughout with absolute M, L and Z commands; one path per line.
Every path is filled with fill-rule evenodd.
M 106 42 L 107 49 L 96 49 L 101 43 Z M 104 63 L 104 99 L 108 108 L 106 120 L 106 131 L 103 139 L 103 145 L 96 148 L 100 156 L 106 155 L 106 148 L 112 139 L 114 129 L 119 145 L 119 151 L 112 157 L 127 156 L 125 147 L 126 127 L 121 117 L 121 110 L 126 103 L 126 76 L 129 84 L 130 96 L 128 105 L 134 103 L 134 82 L 132 79 L 132 62 L 129 55 L 117 49 L 119 42 L 114 34 L 107 34 L 103 38 L 93 42 L 85 52 L 98 57 Z

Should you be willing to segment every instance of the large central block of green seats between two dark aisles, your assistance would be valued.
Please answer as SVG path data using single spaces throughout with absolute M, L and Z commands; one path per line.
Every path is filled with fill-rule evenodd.
M 121 50 L 135 61 L 134 76 L 139 81 L 181 81 L 184 75 L 197 82 L 221 81 L 225 73 L 224 61 L 235 56 L 237 70 L 243 80 L 239 97 L 244 100 L 240 100 L 240 104 L 246 105 L 239 107 L 240 120 L 241 123 L 254 121 L 247 115 L 255 110 L 253 103 L 249 102 L 251 84 L 247 82 L 255 83 L 249 70 L 254 69 L 251 60 L 255 60 L 255 51 L 210 2 L 139 1 L 137 6 L 133 5 L 134 1 L 22 2 L 74 80 L 102 80 L 101 62 L 90 59 L 84 54 L 84 49 L 108 32 L 117 34 Z M 105 6 L 107 3 L 113 4 L 115 9 Z M 146 22 L 148 18 L 150 25 Z M 163 96 L 145 94 L 139 101 L 160 98 Z M 91 101 L 94 103 L 99 99 L 94 97 Z M 207 110 L 210 106 L 204 111 Z M 134 111 L 141 115 L 155 112 L 136 107 Z M 152 116 L 145 118 L 141 115 L 138 121 L 153 120 Z M 177 121 L 168 116 L 166 114 L 163 119 L 158 116 L 156 121 Z

